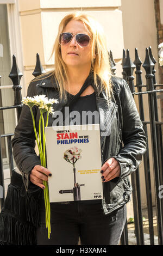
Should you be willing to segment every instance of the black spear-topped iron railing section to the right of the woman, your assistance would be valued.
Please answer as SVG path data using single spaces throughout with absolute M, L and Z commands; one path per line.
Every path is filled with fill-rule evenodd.
M 129 57 L 129 51 L 125 54 L 123 50 L 123 78 L 128 82 L 133 97 L 138 95 L 139 98 L 139 113 L 143 123 L 143 129 L 145 130 L 146 137 L 152 142 L 152 162 L 154 170 L 154 187 L 155 187 L 155 200 L 156 200 L 156 218 L 157 218 L 157 229 L 158 229 L 158 243 L 163 245 L 163 199 L 159 197 L 159 187 L 163 184 L 162 171 L 163 171 L 163 149 L 162 149 L 162 131 L 161 126 L 163 123 L 158 120 L 158 105 L 156 94 L 163 92 L 163 89 L 156 90 L 156 87 L 162 87 L 163 84 L 156 84 L 154 69 L 156 61 L 152 55 L 151 47 L 146 48 L 146 58 L 143 63 L 143 68 L 146 71 L 146 86 L 142 83 L 142 71 L 141 71 L 141 60 L 135 48 L 135 60 L 131 62 Z M 136 68 L 136 86 L 134 86 L 133 71 Z M 142 92 L 142 87 L 146 87 L 146 92 Z M 137 93 L 135 92 L 137 88 Z M 144 107 L 143 107 L 143 95 L 148 95 L 148 106 L 149 106 L 149 121 L 145 121 Z M 148 136 L 147 124 L 151 129 L 151 138 Z M 152 188 L 151 188 L 151 170 L 149 162 L 149 148 L 147 143 L 147 151 L 143 156 L 145 181 L 146 181 L 146 197 L 147 197 L 147 208 L 148 208 L 148 219 L 149 219 L 149 237 L 151 245 L 154 245 L 154 227 L 153 227 L 153 209 L 152 209 Z M 135 236 L 137 245 L 144 245 L 144 233 L 143 233 L 143 221 L 142 221 L 142 204 L 141 204 L 141 191 L 140 191 L 140 176 L 139 168 L 136 172 L 131 175 L 131 184 L 133 186 L 133 210 L 134 210 L 134 224 L 135 224 Z M 127 222 L 126 228 L 124 228 L 121 244 L 128 245 L 127 239 Z

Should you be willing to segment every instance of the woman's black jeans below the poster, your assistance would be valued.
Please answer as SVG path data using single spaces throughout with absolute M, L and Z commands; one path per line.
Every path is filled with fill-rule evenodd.
M 45 206 L 40 205 L 37 245 L 118 245 L 126 223 L 126 205 L 104 215 L 102 204 L 51 203 L 51 239 L 45 227 Z

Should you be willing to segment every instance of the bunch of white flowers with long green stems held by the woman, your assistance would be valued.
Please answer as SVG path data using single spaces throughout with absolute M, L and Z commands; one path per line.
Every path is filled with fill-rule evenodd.
M 48 117 L 49 113 L 53 114 L 54 109 L 52 107 L 53 103 L 58 103 L 57 99 L 48 99 L 46 95 L 36 95 L 34 97 L 23 97 L 22 103 L 27 105 L 30 108 L 30 113 L 32 114 L 33 120 L 33 127 L 35 132 L 35 137 L 37 141 L 37 146 L 39 149 L 41 165 L 46 167 L 46 156 L 45 156 L 45 123 L 43 119 L 43 113 L 47 112 L 47 119 L 46 119 L 46 127 L 48 125 Z M 35 119 L 33 115 L 32 108 L 33 106 L 37 106 L 40 109 L 40 120 L 39 120 L 39 136 L 37 136 L 36 126 L 35 126 Z M 43 137 L 43 145 L 41 142 L 41 122 L 42 122 L 42 137 Z M 45 210 L 46 210 L 46 228 L 48 228 L 48 239 L 50 238 L 51 234 L 51 209 L 49 203 L 49 192 L 48 192 L 48 184 L 47 181 L 43 181 L 43 185 L 45 186 L 44 192 L 44 199 L 45 199 Z

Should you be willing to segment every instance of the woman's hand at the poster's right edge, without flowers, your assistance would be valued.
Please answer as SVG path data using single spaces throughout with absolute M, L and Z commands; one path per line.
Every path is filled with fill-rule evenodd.
M 101 168 L 101 173 L 101 178 L 103 179 L 103 182 L 107 182 L 116 177 L 119 177 L 121 174 L 120 164 L 114 157 L 111 157 L 103 164 Z

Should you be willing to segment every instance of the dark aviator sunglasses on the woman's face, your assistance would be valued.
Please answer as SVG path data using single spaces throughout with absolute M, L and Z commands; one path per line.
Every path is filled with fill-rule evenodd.
M 91 40 L 90 36 L 86 34 L 76 34 L 75 36 L 76 36 L 77 43 L 82 47 L 87 46 Z M 60 45 L 66 45 L 68 44 L 68 42 L 72 40 L 72 38 L 73 38 L 73 34 L 71 33 L 61 33 L 59 38 L 59 43 Z

